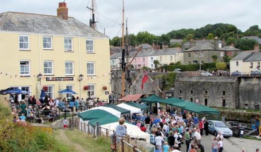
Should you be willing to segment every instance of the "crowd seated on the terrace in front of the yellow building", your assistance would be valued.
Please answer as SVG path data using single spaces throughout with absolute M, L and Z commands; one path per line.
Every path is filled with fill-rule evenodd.
M 26 95 L 22 101 L 18 101 L 17 97 L 12 97 L 10 100 L 4 99 L 5 102 L 10 103 L 12 108 L 12 115 L 14 122 L 34 121 L 37 123 L 45 123 L 54 120 L 58 116 L 58 112 L 77 112 L 79 109 L 87 110 L 91 107 L 101 106 L 104 103 L 97 98 L 90 98 L 84 100 L 79 97 L 71 96 L 70 98 L 56 98 L 48 97 L 37 99 L 35 95 Z M 75 110 L 74 110 L 75 108 Z

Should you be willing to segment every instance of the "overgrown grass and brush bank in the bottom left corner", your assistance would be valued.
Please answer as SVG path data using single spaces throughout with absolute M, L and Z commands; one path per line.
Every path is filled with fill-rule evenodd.
M 26 126 L 13 123 L 13 117 L 8 103 L 0 101 L 0 151 L 68 151 L 52 134 L 32 127 L 30 123 Z

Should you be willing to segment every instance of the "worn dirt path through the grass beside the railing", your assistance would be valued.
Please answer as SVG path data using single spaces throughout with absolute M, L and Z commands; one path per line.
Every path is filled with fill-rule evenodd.
M 67 144 L 67 145 L 71 145 L 73 146 L 76 151 L 78 152 L 87 152 L 87 150 L 85 150 L 80 144 L 77 144 L 75 142 L 72 142 L 66 135 L 65 135 L 65 130 L 64 129 L 58 129 L 57 132 L 59 133 L 59 135 L 57 135 L 55 138 L 57 138 L 57 140 L 62 141 L 63 143 Z M 73 143 L 73 144 L 72 144 Z

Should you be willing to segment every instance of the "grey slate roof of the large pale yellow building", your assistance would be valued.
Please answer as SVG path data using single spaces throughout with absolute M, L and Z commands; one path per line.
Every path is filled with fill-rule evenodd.
M 63 20 L 59 16 L 21 12 L 1 13 L 0 30 L 64 36 L 109 38 L 73 17 L 68 17 L 68 20 Z

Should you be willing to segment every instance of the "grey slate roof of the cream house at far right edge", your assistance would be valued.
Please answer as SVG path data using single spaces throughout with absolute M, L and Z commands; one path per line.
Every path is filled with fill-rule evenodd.
M 243 62 L 261 61 L 261 52 L 254 51 L 254 50 L 242 51 L 234 58 L 232 58 L 230 61 L 243 61 Z

